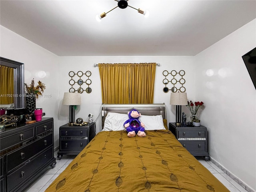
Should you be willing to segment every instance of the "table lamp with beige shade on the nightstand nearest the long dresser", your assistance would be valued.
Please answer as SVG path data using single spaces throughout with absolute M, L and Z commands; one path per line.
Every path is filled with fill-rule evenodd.
M 62 105 L 69 105 L 69 126 L 72 126 L 75 122 L 75 106 L 81 104 L 80 93 L 64 93 Z

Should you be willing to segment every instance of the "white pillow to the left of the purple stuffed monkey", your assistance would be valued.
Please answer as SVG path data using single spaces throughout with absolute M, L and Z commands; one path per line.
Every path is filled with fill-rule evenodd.
M 124 122 L 129 119 L 128 114 L 108 112 L 102 131 L 123 131 Z

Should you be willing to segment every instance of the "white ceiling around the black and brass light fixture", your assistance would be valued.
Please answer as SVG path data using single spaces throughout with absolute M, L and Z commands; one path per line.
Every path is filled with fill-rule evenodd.
M 196 55 L 256 18 L 256 0 L 1 0 L 0 24 L 58 56 Z

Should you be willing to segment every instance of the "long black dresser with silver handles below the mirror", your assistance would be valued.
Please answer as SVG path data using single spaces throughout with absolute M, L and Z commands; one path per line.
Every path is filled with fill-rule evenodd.
M 53 118 L 6 127 L 0 132 L 0 191 L 19 192 L 45 168 L 56 165 Z

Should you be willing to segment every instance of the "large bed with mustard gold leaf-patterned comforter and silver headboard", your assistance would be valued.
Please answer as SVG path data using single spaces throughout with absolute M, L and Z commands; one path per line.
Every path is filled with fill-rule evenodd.
M 146 137 L 128 137 L 120 126 L 132 109 Z M 164 104 L 102 104 L 102 111 L 102 131 L 46 192 L 229 191 L 168 130 Z

